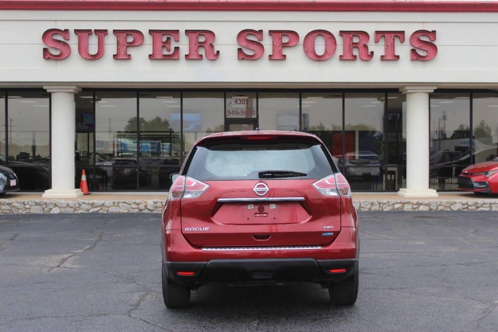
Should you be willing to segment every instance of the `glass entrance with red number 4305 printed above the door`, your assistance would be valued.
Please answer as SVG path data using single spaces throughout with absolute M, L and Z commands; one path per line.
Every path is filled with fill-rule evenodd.
M 227 93 L 225 131 L 255 130 L 257 128 L 256 100 L 256 93 Z

